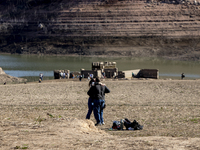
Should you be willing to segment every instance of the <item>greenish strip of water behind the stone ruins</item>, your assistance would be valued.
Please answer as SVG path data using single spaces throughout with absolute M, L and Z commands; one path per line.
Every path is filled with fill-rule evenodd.
M 53 77 L 53 70 L 69 69 L 80 71 L 81 68 L 91 70 L 92 62 L 114 61 L 118 70 L 159 69 L 160 78 L 185 79 L 200 78 L 200 63 L 190 61 L 172 61 L 159 58 L 134 57 L 83 57 L 83 56 L 32 56 L 32 55 L 0 55 L 0 67 L 9 75 L 16 77 L 45 76 Z

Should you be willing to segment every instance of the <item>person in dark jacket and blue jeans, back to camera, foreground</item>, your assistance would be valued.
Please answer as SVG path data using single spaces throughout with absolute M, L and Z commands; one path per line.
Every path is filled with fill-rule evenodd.
M 94 116 L 96 119 L 95 126 L 104 125 L 103 120 L 103 109 L 105 107 L 105 93 L 110 93 L 110 90 L 105 84 L 100 82 L 100 79 L 96 77 L 96 82 L 94 86 L 91 86 L 87 94 L 94 98 Z

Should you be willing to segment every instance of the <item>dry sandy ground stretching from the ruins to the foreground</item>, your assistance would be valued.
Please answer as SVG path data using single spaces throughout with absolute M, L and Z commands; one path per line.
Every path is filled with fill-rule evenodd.
M 200 80 L 103 81 L 104 126 L 86 120 L 88 81 L 0 85 L 0 149 L 200 149 Z M 109 131 L 128 118 L 137 131 Z

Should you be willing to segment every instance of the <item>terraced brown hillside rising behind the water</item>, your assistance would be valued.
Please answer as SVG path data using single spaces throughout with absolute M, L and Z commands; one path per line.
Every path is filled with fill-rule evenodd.
M 195 1 L 0 2 L 0 52 L 200 60 Z

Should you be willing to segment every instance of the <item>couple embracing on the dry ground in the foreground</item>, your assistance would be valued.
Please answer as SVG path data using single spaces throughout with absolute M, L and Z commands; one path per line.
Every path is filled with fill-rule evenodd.
M 88 113 L 86 119 L 90 119 L 90 115 L 93 111 L 94 117 L 96 119 L 95 126 L 104 125 L 103 119 L 103 109 L 105 108 L 105 93 L 110 93 L 107 86 L 100 82 L 98 77 L 91 78 L 89 82 L 89 95 L 88 99 Z

